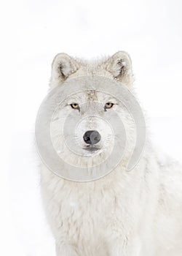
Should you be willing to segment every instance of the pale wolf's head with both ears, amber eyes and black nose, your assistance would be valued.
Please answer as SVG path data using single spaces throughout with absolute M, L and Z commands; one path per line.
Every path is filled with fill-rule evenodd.
M 113 81 L 132 90 L 131 60 L 123 51 L 98 61 L 73 59 L 65 53 L 55 56 L 50 88 L 71 88 L 55 110 L 50 126 L 52 144 L 65 162 L 79 167 L 100 165 L 114 145 L 119 148 L 116 154 L 119 151 L 121 158 L 124 155 L 122 162 L 132 154 L 135 121 L 123 102 L 106 93 L 105 88 Z M 95 90 L 94 85 L 101 83 L 103 90 Z M 76 91 L 80 84 L 82 91 Z

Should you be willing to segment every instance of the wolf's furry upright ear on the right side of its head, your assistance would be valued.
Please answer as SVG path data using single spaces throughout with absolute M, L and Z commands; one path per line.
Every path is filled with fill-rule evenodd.
M 126 85 L 132 85 L 132 61 L 130 56 L 124 52 L 119 51 L 105 62 L 105 67 L 114 78 Z

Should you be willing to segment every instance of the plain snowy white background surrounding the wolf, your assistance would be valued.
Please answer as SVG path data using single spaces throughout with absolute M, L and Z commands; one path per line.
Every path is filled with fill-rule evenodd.
M 33 140 L 53 57 L 59 52 L 86 59 L 117 50 L 130 53 L 154 143 L 181 160 L 182 3 L 32 0 L 1 5 L 0 255 L 54 256 Z

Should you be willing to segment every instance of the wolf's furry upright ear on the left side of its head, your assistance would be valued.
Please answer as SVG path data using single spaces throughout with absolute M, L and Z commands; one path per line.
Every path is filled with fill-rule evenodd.
M 52 61 L 52 77 L 50 86 L 58 86 L 63 83 L 69 75 L 79 69 L 79 64 L 75 59 L 66 53 L 58 53 Z

